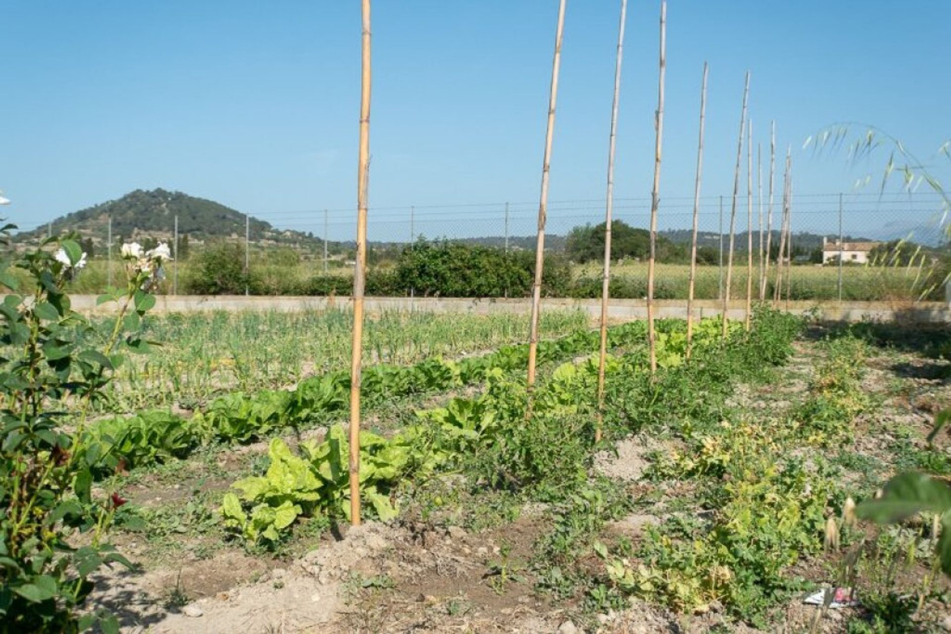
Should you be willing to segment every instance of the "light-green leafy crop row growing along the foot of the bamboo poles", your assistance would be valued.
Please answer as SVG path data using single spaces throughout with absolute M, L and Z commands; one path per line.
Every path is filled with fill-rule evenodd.
M 741 332 L 741 324 L 732 326 L 728 345 L 738 343 Z M 642 343 L 643 325 L 613 330 L 612 347 L 624 347 L 630 337 L 631 343 Z M 704 320 L 695 329 L 693 350 L 703 355 L 719 349 L 721 338 L 720 320 Z M 569 342 L 573 352 L 592 351 L 596 333 Z M 684 322 L 659 322 L 657 344 L 659 365 L 680 367 L 687 344 Z M 521 355 L 505 358 L 511 367 L 524 365 Z M 486 490 L 523 491 L 555 473 L 564 482 L 583 481 L 583 456 L 590 456 L 593 445 L 596 361 L 563 364 L 531 393 L 521 380 L 507 376 L 508 363 L 480 363 L 476 375 L 486 382 L 482 394 L 417 411 L 416 421 L 389 439 L 361 432 L 361 498 L 385 521 L 398 514 L 398 499 L 410 485 L 425 486 L 439 473 L 464 472 L 469 485 Z M 606 373 L 610 379 L 646 377 L 647 368 L 641 346 L 610 357 Z M 298 448 L 294 454 L 280 439 L 272 441 L 266 473 L 235 483 L 240 494 L 224 497 L 226 527 L 248 543 L 279 541 L 300 516 L 347 516 L 348 444 L 342 427 L 331 427 L 322 443 L 306 441 Z

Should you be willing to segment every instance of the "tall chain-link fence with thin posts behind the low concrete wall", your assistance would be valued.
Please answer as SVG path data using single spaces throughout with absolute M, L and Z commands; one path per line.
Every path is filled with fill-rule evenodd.
M 749 203 L 744 193 L 735 204 L 732 297 L 746 296 Z M 546 250 L 553 261 L 570 263 L 574 284 L 559 292 L 578 297 L 599 294 L 603 247 L 598 244 L 603 245 L 603 231 L 592 228 L 603 226 L 604 208 L 603 200 L 550 203 Z M 754 287 L 758 294 L 763 284 L 768 296 L 773 292 L 780 259 L 782 201 L 776 197 L 770 204 L 766 195 L 754 193 L 751 210 Z M 713 299 L 724 293 L 733 211 L 730 195 L 704 196 L 700 201 L 698 298 Z M 785 255 L 783 258 L 788 276 L 784 294 L 788 292 L 792 299 L 817 300 L 942 298 L 948 272 L 944 264 L 946 211 L 944 199 L 933 192 L 796 194 L 790 210 L 791 249 L 786 251 L 791 252 L 791 266 L 786 266 Z M 660 201 L 659 298 L 687 295 L 692 215 L 692 197 Z M 194 230 L 178 230 L 178 218 L 172 213 L 153 218 L 148 228 L 125 228 L 122 235 L 110 229 L 108 217 L 100 217 L 80 228 L 85 245 L 93 251 L 94 266 L 90 268 L 94 270 L 84 287 L 77 289 L 91 292 L 99 290 L 96 286 L 114 284 L 122 267 L 119 241 L 134 239 L 168 241 L 173 246 L 177 257 L 167 271 L 169 293 L 214 292 L 213 286 L 203 287 L 195 280 L 226 269 L 243 275 L 243 291 L 252 294 L 347 294 L 355 257 L 355 217 L 353 209 L 260 213 L 248 218 L 243 231 L 239 227 L 214 239 L 207 237 L 207 228 L 201 237 Z M 634 231 L 614 242 L 612 294 L 638 297 L 644 292 L 647 274 L 645 229 L 649 227 L 650 199 L 616 199 L 613 217 Z M 156 228 L 157 224 L 167 227 Z M 371 208 L 369 270 L 372 274 L 395 267 L 400 253 L 417 241 L 478 245 L 509 254 L 534 252 L 536 228 L 536 202 Z M 622 229 L 615 225 L 615 235 L 620 236 Z M 58 232 L 60 228 L 53 224 L 48 230 Z M 199 262 L 206 260 L 202 254 L 207 249 L 220 243 L 230 246 L 221 254 L 226 261 Z M 768 258 L 761 256 L 767 248 Z M 321 278 L 337 279 L 340 284 L 315 282 Z M 416 292 L 411 284 L 381 290 L 387 294 Z

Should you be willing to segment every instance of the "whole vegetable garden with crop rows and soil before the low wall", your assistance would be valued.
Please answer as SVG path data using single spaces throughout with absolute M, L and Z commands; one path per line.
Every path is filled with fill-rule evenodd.
M 758 307 L 726 340 L 719 318 L 695 323 L 688 358 L 686 323 L 659 320 L 651 373 L 647 325 L 617 325 L 599 403 L 600 337 L 573 313 L 549 315 L 531 389 L 528 345 L 503 343 L 524 323 L 384 315 L 362 376 L 367 524 L 347 530 L 342 356 L 249 364 L 246 383 L 143 409 L 129 377 L 182 354 L 152 337 L 191 319 L 147 314 L 162 255 L 127 261 L 126 292 L 103 298 L 124 308 L 96 323 L 58 290 L 81 268 L 61 249 L 15 263 L 35 289 L 3 304 L 6 631 L 941 626 L 947 487 L 885 483 L 951 473 L 943 429 L 926 438 L 951 398 L 946 330 Z M 346 313 L 194 319 L 269 343 L 281 320 Z M 830 586 L 858 603 L 802 604 Z M 326 595 L 316 616 L 281 604 L 301 591 Z

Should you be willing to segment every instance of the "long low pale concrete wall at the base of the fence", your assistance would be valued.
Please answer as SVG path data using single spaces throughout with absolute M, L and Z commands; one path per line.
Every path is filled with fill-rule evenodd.
M 72 295 L 72 306 L 80 312 L 107 314 L 118 309 L 115 305 L 96 306 L 94 295 Z M 159 295 L 156 297 L 155 312 L 201 312 L 211 310 L 319 310 L 326 307 L 350 306 L 349 297 L 245 297 L 243 295 Z M 424 310 L 430 312 L 469 312 L 490 314 L 496 312 L 515 312 L 528 314 L 528 299 L 465 299 L 417 297 L 368 297 L 364 300 L 368 313 L 385 310 Z M 686 302 L 683 300 L 657 300 L 654 303 L 658 317 L 687 316 Z M 716 300 L 698 300 L 694 303 L 694 316 L 708 317 L 718 315 L 722 302 Z M 782 302 L 780 307 L 786 307 Z M 600 300 L 545 299 L 542 308 L 581 309 L 597 319 L 601 311 Z M 746 301 L 730 302 L 730 319 L 742 319 Z M 815 311 L 821 319 L 830 321 L 861 321 L 862 319 L 893 320 L 918 323 L 951 322 L 948 305 L 941 302 L 889 303 L 889 302 L 789 302 L 790 312 L 802 314 Z M 611 300 L 609 316 L 612 320 L 627 321 L 647 317 L 647 303 L 644 300 Z

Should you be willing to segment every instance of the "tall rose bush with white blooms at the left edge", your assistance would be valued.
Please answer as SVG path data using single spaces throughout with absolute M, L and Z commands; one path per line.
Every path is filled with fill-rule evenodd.
M 4 246 L 10 230 L 0 228 Z M 167 246 L 123 248 L 125 289 L 107 335 L 73 310 L 64 290 L 86 266 L 72 238 L 0 258 L 0 631 L 78 632 L 115 618 L 84 610 L 89 575 L 130 565 L 107 544 L 117 494 L 94 493 L 93 468 L 106 444 L 84 433 L 89 407 L 102 398 L 127 352 L 147 349 L 141 319 L 161 279 Z M 14 269 L 18 274 L 13 274 Z M 71 430 L 70 430 L 71 428 Z

